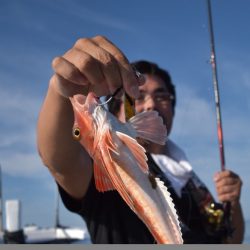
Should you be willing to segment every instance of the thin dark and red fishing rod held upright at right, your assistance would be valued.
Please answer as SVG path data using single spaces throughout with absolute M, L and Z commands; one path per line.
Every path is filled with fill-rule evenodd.
M 218 134 L 219 151 L 220 151 L 220 165 L 221 165 L 221 171 L 224 171 L 226 169 L 225 168 L 226 163 L 225 163 L 225 151 L 224 151 L 222 119 L 221 119 L 219 84 L 218 84 L 218 76 L 217 76 L 216 54 L 215 54 L 215 45 L 214 45 L 212 9 L 211 9 L 210 0 L 207 0 L 207 11 L 208 11 L 208 27 L 209 27 L 209 34 L 210 34 L 210 48 L 211 48 L 210 64 L 212 66 L 212 73 L 213 73 L 213 86 L 214 86 L 214 96 L 215 96 L 215 104 L 216 104 L 217 134 Z M 226 226 L 226 233 L 227 235 L 230 236 L 232 234 L 231 218 L 230 218 L 230 210 L 231 210 L 230 202 L 224 203 L 223 207 L 224 207 L 223 210 L 224 210 L 224 223 Z

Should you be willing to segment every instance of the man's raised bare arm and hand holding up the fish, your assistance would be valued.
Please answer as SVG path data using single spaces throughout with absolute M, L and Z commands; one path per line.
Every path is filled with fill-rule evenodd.
M 118 87 L 132 97 L 138 82 L 128 60 L 102 36 L 79 39 L 52 62 L 52 76 L 37 126 L 37 144 L 44 164 L 56 181 L 74 198 L 82 198 L 92 176 L 92 160 L 72 137 L 74 94 L 112 94 Z

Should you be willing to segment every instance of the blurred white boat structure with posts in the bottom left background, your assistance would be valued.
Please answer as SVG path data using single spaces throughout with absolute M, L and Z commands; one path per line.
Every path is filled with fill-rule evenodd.
M 5 201 L 5 227 L 3 226 L 3 200 L 0 165 L 0 244 L 91 244 L 85 228 L 61 226 L 59 223 L 59 194 L 57 196 L 55 226 L 50 228 L 28 225 L 21 227 L 21 202 Z

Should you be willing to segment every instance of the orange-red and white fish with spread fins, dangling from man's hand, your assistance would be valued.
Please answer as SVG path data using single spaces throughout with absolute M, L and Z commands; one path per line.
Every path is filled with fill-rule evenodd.
M 149 172 L 146 151 L 137 138 L 164 145 L 166 126 L 157 111 L 122 122 L 89 92 L 70 97 L 72 133 L 93 159 L 96 189 L 116 190 L 143 221 L 158 244 L 183 244 L 173 200 L 163 182 Z

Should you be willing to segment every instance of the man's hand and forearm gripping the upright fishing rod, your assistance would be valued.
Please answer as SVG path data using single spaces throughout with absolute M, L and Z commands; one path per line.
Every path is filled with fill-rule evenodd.
M 242 243 L 244 239 L 245 223 L 240 205 L 240 193 L 242 181 L 239 176 L 232 171 L 225 170 L 215 174 L 214 177 L 216 191 L 220 202 L 230 202 L 232 228 L 234 229 L 231 238 L 227 243 Z

